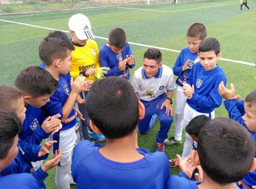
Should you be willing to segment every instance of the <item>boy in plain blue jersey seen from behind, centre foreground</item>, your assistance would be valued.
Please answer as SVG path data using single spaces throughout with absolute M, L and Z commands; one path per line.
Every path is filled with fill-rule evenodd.
M 136 145 L 137 124 L 145 108 L 129 81 L 114 76 L 96 81 L 86 105 L 91 128 L 102 132 L 107 144 L 82 141 L 76 145 L 71 166 L 76 189 L 164 188 L 170 174 L 168 158 Z

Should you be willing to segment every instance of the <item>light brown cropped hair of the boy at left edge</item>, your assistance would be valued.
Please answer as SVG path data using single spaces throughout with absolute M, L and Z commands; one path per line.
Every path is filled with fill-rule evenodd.
M 17 100 L 21 97 L 22 95 L 16 87 L 0 84 L 0 109 L 15 112 L 17 110 Z

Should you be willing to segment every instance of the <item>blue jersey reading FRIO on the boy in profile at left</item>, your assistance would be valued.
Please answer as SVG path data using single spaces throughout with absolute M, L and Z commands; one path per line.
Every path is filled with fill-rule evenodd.
M 71 92 L 71 87 L 70 75 L 60 75 L 59 77 L 60 79 L 58 81 L 58 84 L 60 85 L 60 87 L 56 91 L 54 91 L 53 95 L 50 97 L 50 101 L 46 103 L 45 109 L 51 116 L 59 113 L 61 115 L 59 119 L 61 120 L 63 117 L 62 107 L 68 100 L 69 94 Z M 62 123 L 62 129 L 60 131 L 69 129 L 71 127 L 74 127 L 75 125 L 76 109 L 74 104 L 73 109 L 68 115 L 68 118 Z

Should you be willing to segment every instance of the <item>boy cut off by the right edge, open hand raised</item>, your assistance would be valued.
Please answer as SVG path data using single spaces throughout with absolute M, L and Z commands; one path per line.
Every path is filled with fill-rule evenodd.
M 221 83 L 219 92 L 226 99 L 223 103 L 228 111 L 229 118 L 236 120 L 250 130 L 252 138 L 256 142 L 256 90 L 248 94 L 244 100 L 239 100 L 239 96 L 236 96 L 233 84 L 231 84 L 231 90 L 228 90 Z M 236 184 L 241 187 L 239 183 Z M 252 188 L 252 186 L 256 185 L 256 171 L 248 173 L 241 181 L 241 184 L 246 188 Z

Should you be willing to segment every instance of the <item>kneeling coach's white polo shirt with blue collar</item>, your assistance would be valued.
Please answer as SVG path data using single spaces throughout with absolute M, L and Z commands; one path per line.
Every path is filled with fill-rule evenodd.
M 162 65 L 155 77 L 147 77 L 143 66 L 132 76 L 132 86 L 139 93 L 141 100 L 151 101 L 165 92 L 175 88 L 174 75 L 171 68 Z

